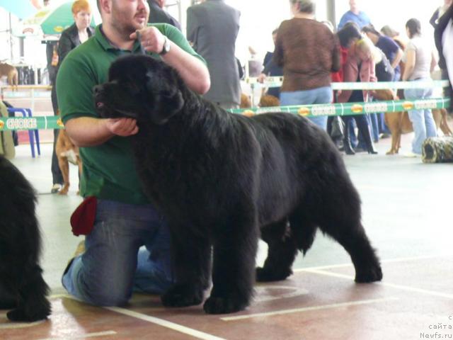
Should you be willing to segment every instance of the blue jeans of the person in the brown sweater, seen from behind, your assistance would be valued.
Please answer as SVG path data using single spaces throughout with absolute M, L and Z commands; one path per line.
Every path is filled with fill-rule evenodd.
M 311 104 L 330 104 L 333 101 L 333 91 L 331 86 L 323 86 L 317 89 L 280 92 L 280 105 L 311 105 Z M 327 131 L 327 115 L 319 117 L 309 117 L 319 128 Z

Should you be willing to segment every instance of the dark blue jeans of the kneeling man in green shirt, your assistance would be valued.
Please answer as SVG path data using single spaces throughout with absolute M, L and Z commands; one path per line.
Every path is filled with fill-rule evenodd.
M 170 243 L 166 222 L 151 205 L 98 200 L 86 249 L 69 264 L 62 284 L 100 306 L 124 305 L 133 290 L 162 294 L 174 283 Z

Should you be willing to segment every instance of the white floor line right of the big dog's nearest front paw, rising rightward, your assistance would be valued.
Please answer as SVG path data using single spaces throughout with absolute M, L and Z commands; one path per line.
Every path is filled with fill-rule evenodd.
M 273 312 L 238 315 L 237 317 L 221 317 L 220 319 L 223 321 L 236 321 L 236 320 L 242 320 L 242 319 L 251 319 L 253 317 L 272 317 L 275 315 L 282 315 L 282 314 L 311 312 L 314 310 L 329 310 L 329 309 L 333 309 L 333 308 L 350 307 L 350 306 L 357 306 L 357 305 L 368 305 L 370 303 L 388 302 L 388 301 L 393 301 L 393 300 L 398 300 L 398 298 L 397 297 L 386 297 L 384 299 L 358 300 L 358 301 L 351 301 L 351 302 L 333 303 L 331 305 L 302 307 L 302 308 L 293 308 L 290 310 L 275 310 Z

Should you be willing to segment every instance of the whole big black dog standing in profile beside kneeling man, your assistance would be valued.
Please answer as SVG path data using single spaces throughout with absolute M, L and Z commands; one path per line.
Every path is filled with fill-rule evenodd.
M 205 312 L 243 310 L 255 279 L 292 274 L 298 249 L 310 248 L 318 227 L 348 251 L 357 282 L 382 279 L 343 159 L 306 118 L 227 113 L 145 55 L 115 61 L 94 92 L 102 117 L 139 125 L 137 170 L 174 243 L 178 283 L 164 305 L 202 302 L 212 271 Z M 255 268 L 258 237 L 269 246 L 263 268 Z

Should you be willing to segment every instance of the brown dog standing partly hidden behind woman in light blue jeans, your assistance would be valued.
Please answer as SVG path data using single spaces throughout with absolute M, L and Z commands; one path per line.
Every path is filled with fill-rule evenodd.
M 374 98 L 379 101 L 396 101 L 398 97 L 391 90 L 376 90 L 373 94 Z M 447 124 L 447 110 L 445 108 L 436 108 L 432 110 L 432 118 L 434 118 L 437 129 L 440 128 L 444 135 L 451 136 Z M 403 133 L 413 132 L 411 120 L 407 111 L 385 113 L 385 123 L 391 132 L 391 149 L 386 154 L 398 154 L 401 147 L 401 135 Z

